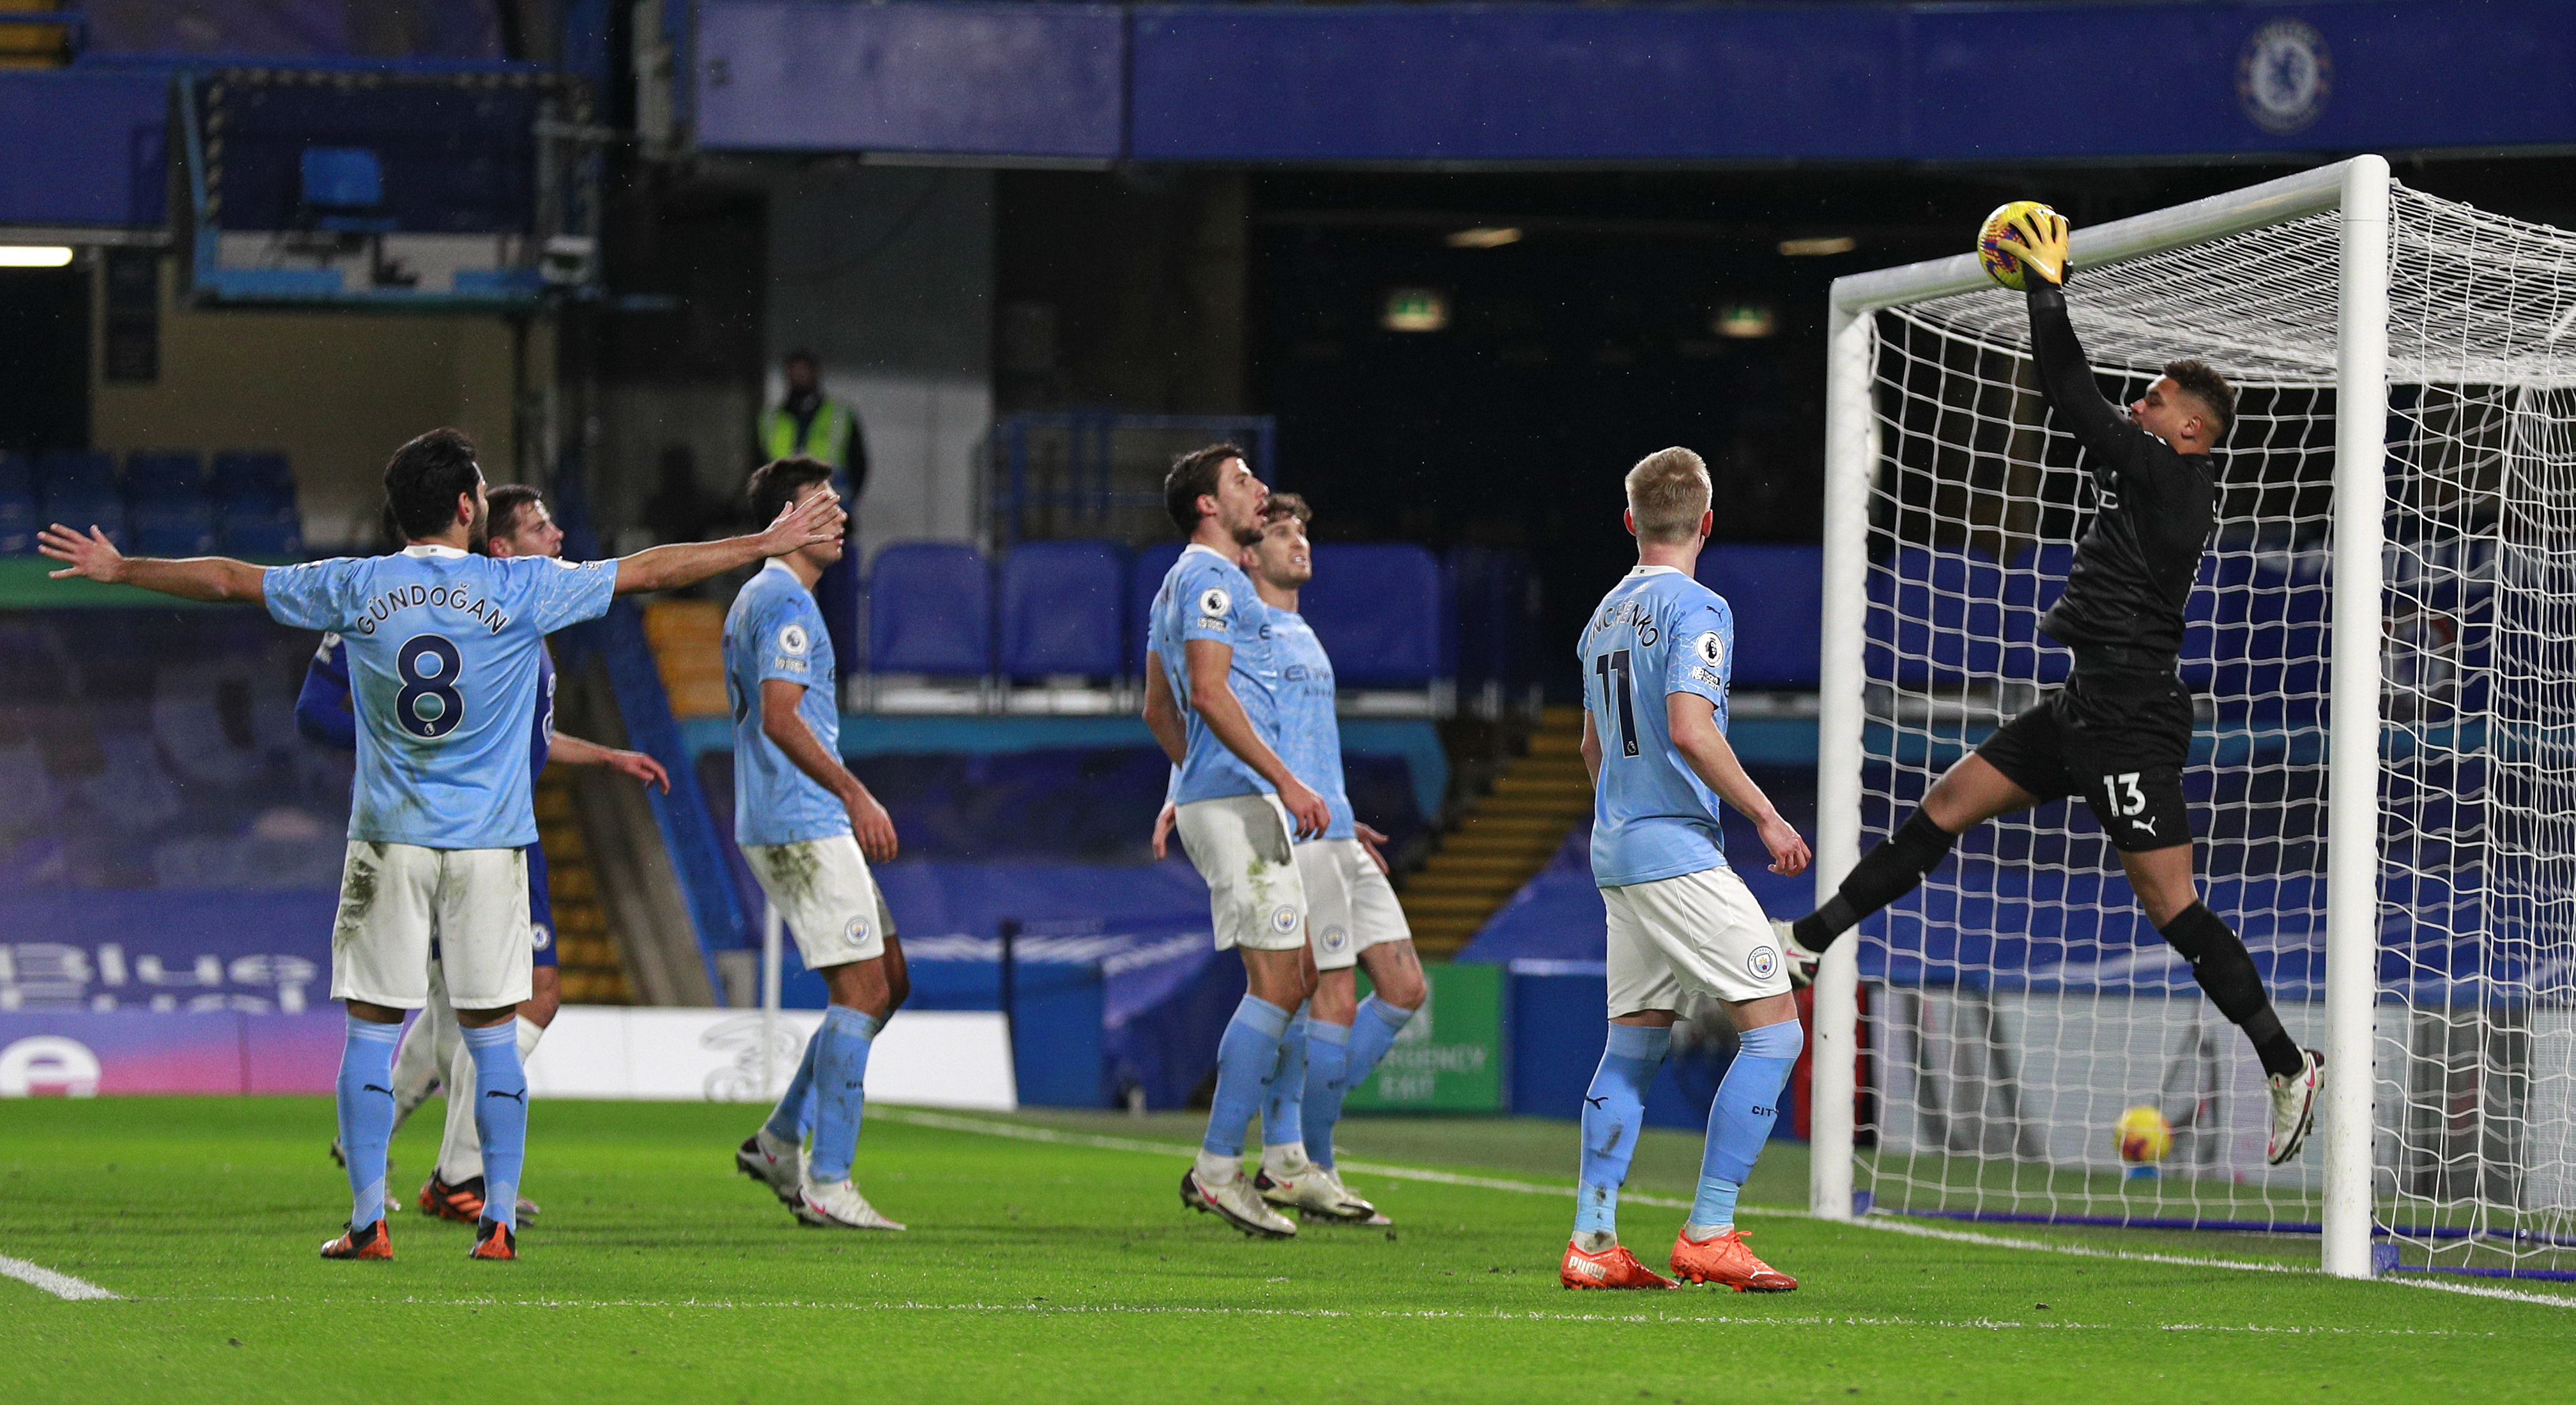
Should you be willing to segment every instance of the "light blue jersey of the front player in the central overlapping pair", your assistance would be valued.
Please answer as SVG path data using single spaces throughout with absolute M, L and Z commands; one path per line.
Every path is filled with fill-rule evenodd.
M 1190 745 L 1180 758 L 1180 776 L 1172 779 L 1170 789 L 1175 804 L 1226 794 L 1270 794 L 1270 781 L 1244 766 L 1244 758 L 1226 750 L 1226 742 L 1216 740 L 1216 732 L 1208 732 L 1208 722 L 1190 706 L 1190 663 L 1182 655 L 1182 644 L 1190 639 L 1234 644 L 1234 670 L 1229 675 L 1234 699 L 1244 704 L 1252 732 L 1278 750 L 1275 693 L 1280 665 L 1267 619 L 1270 606 L 1252 593 L 1252 577 L 1231 559 L 1195 541 L 1180 552 L 1172 572 L 1162 577 L 1162 590 L 1154 593 L 1146 650 L 1151 650 L 1154 663 L 1162 668 L 1164 683 L 1172 686 L 1172 701 L 1180 704 L 1180 717 L 1190 730 Z

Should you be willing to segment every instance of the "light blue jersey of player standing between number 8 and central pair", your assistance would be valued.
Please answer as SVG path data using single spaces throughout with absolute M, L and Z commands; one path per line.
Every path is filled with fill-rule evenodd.
M 850 833 L 850 809 L 760 730 L 760 683 L 801 683 L 804 719 L 840 755 L 832 637 L 822 606 L 781 562 L 760 567 L 724 616 L 724 696 L 734 706 L 734 843 L 796 843 Z

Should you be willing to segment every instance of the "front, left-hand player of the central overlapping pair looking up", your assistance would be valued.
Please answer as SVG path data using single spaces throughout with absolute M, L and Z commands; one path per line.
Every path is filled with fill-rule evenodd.
M 1270 490 L 1231 443 L 1193 449 L 1162 482 L 1190 536 L 1154 593 L 1144 724 L 1172 758 L 1172 822 L 1208 884 L 1216 949 L 1244 959 L 1244 1000 L 1216 1044 L 1216 1098 L 1180 1204 L 1247 1235 L 1296 1225 L 1244 1176 L 1244 1132 L 1278 1075 L 1288 1016 L 1314 995 L 1306 884 L 1293 843 L 1332 828 L 1324 797 L 1280 761 L 1280 650 L 1236 552 L 1262 539 Z

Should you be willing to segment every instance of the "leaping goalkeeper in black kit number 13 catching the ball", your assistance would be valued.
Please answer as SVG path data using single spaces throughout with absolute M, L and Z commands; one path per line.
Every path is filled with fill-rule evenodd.
M 2174 361 L 2123 415 L 2094 387 L 2066 320 L 2066 219 L 2022 219 L 2004 240 L 2030 278 L 2030 351 L 2040 389 L 2084 446 L 2099 510 L 2076 541 L 2066 593 L 2040 629 L 2074 650 L 2063 688 L 1963 755 L 1922 807 L 1842 879 L 1824 907 L 1780 923 L 1798 985 L 1862 918 L 1914 892 L 1973 825 L 2081 794 L 2110 830 L 2128 884 L 2192 980 L 2254 1044 L 2272 1093 L 2269 1160 L 2298 1155 L 2316 1121 L 2324 1060 L 2280 1026 L 2262 972 L 2228 923 L 2200 902 L 2182 763 L 2192 755 L 2192 696 L 2177 678 L 2182 611 L 2218 516 L 2210 451 L 2236 415 L 2236 392 L 2200 361 Z M 2362 1070 L 2367 1075 L 2367 1070 Z

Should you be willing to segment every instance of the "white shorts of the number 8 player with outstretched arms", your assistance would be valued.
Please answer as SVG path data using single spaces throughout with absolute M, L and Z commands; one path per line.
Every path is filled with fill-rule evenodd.
M 330 928 L 330 998 L 417 1011 L 430 1003 L 430 938 L 448 1005 L 500 1011 L 528 998 L 528 856 L 350 840 Z

